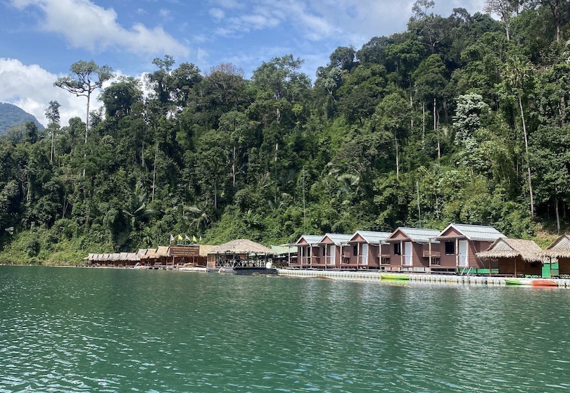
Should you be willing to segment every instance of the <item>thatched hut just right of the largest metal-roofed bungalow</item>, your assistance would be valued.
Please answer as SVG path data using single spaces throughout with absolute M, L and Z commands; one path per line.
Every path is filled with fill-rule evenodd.
M 498 238 L 486 251 L 478 252 L 489 274 L 500 276 L 543 276 L 543 250 L 532 240 Z

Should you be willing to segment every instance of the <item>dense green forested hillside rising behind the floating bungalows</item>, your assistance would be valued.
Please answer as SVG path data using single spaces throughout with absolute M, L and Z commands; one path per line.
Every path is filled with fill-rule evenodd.
M 123 77 L 88 130 L 60 125 L 52 102 L 46 131 L 0 142 L 0 260 L 72 261 L 179 233 L 564 231 L 570 6 L 521 2 L 489 0 L 493 20 L 419 0 L 405 32 L 338 47 L 314 83 L 288 54 L 251 79 L 165 56 L 149 65 L 150 96 Z

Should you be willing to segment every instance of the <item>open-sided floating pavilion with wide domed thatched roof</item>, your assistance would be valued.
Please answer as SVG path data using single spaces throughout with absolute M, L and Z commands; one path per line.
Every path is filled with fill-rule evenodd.
M 274 255 L 275 252 L 265 245 L 248 239 L 232 240 L 208 250 L 208 269 L 236 273 L 254 271 L 277 273 L 276 269 L 267 267 L 267 263 L 272 262 Z

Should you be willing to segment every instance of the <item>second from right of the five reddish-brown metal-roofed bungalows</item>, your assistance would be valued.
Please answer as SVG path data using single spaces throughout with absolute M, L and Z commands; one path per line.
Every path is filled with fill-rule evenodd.
M 439 251 L 439 243 L 432 238 L 438 234 L 437 229 L 396 229 L 386 238 L 386 243 L 390 244 L 389 264 L 381 264 L 380 269 L 429 272 L 430 255 Z

